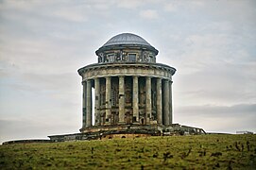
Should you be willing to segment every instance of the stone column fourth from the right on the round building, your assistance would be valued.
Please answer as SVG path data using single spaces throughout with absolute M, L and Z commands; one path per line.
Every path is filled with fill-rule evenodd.
M 151 77 L 145 78 L 145 123 L 149 124 L 151 118 Z

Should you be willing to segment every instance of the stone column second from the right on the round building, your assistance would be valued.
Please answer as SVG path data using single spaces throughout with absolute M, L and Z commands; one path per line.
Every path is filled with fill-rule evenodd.
M 163 125 L 169 125 L 169 80 L 163 80 Z

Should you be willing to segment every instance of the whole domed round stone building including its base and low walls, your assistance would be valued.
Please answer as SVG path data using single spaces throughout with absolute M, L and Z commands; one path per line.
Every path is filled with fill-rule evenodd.
M 80 133 L 4 144 L 205 134 L 202 128 L 173 124 L 172 76 L 176 69 L 157 63 L 158 50 L 150 43 L 123 33 L 95 53 L 98 63 L 78 70 L 83 86 Z

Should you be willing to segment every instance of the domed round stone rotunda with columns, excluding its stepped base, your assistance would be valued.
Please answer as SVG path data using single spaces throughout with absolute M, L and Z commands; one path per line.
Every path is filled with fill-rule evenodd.
M 172 124 L 176 69 L 156 62 L 156 48 L 137 35 L 123 33 L 95 53 L 98 63 L 78 70 L 83 84 L 81 132 L 93 125 Z

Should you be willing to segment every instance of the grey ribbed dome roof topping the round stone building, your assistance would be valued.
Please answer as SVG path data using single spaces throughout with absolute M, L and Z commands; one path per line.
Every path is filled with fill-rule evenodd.
M 102 47 L 111 46 L 111 45 L 120 45 L 120 44 L 136 44 L 136 45 L 146 45 L 151 46 L 140 36 L 131 33 L 122 33 L 118 34 L 106 42 Z

